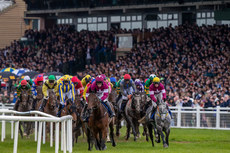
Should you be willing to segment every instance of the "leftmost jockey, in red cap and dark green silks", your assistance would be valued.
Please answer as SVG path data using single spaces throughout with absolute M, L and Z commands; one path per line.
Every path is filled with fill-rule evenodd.
M 22 80 L 21 83 L 19 84 L 18 88 L 17 88 L 17 100 L 16 103 L 14 105 L 14 110 L 18 110 L 18 106 L 19 106 L 19 102 L 21 100 L 21 91 L 22 90 L 26 90 L 29 91 L 29 98 L 31 96 L 31 87 L 29 85 L 29 83 L 27 83 L 26 80 Z

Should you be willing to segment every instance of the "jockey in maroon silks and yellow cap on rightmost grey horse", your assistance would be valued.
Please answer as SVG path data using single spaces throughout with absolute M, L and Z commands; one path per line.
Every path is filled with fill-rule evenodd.
M 163 84 L 160 83 L 160 78 L 155 77 L 153 79 L 153 84 L 151 84 L 150 87 L 149 87 L 149 94 L 150 94 L 151 100 L 153 101 L 153 103 L 152 103 L 153 104 L 153 110 L 152 110 L 152 115 L 150 117 L 150 119 L 153 120 L 155 112 L 156 112 L 156 109 L 157 109 L 156 96 L 158 96 L 159 94 L 162 94 L 163 95 L 162 100 L 165 101 L 165 99 L 166 99 L 165 87 L 164 87 Z M 169 110 L 169 108 L 168 108 L 168 111 L 169 111 L 170 116 L 172 117 L 172 113 Z

